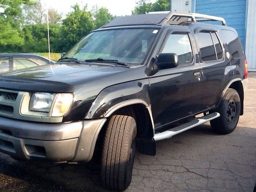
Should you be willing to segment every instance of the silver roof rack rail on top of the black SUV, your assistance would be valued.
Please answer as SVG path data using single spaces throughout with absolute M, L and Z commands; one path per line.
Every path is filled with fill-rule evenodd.
M 170 11 L 168 15 L 161 20 L 159 24 L 171 24 L 171 25 L 179 25 L 183 22 L 187 22 L 188 19 L 191 19 L 193 22 L 196 22 L 196 18 L 199 18 L 198 21 L 204 20 L 218 20 L 222 22 L 223 26 L 226 26 L 226 21 L 222 17 L 204 15 L 199 13 L 179 13 L 176 11 Z

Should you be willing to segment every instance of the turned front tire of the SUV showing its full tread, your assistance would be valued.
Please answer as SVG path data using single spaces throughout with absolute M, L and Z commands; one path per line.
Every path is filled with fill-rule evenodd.
M 109 190 L 123 191 L 132 180 L 136 151 L 136 122 L 133 117 L 114 115 L 103 140 L 101 182 Z

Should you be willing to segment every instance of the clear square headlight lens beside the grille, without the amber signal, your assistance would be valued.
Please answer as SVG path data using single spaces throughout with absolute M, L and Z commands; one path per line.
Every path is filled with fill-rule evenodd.
M 31 97 L 29 110 L 38 112 L 49 112 L 54 94 L 51 93 L 34 93 Z

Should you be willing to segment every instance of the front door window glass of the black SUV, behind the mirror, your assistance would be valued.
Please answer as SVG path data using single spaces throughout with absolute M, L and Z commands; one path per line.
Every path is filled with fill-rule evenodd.
M 193 55 L 188 35 L 170 34 L 162 53 L 176 53 L 179 58 L 179 65 L 190 64 Z

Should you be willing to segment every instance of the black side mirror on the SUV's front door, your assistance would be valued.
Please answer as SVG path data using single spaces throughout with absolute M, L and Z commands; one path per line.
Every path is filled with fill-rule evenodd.
M 179 65 L 178 55 L 176 53 L 160 53 L 156 58 L 158 69 L 176 68 Z

